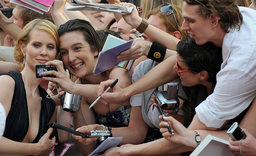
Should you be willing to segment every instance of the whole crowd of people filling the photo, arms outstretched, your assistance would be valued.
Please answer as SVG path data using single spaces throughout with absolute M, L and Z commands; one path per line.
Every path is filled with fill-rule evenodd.
M 13 8 L 9 19 L 0 12 L 0 155 L 48 155 L 56 141 L 75 142 L 89 155 L 100 144 L 97 137 L 54 133 L 53 122 L 122 136 L 104 156 L 189 155 L 209 134 L 228 140 L 235 155 L 255 155 L 256 0 L 106 1 L 134 9 L 74 12 L 66 10 L 68 0 L 54 0 L 50 13 L 40 14 L 0 0 Z M 115 66 L 94 75 L 109 34 L 134 39 L 116 60 L 135 62 L 130 71 Z M 57 71 L 37 71 L 37 64 Z M 163 117 L 154 92 L 170 82 L 180 84 L 180 103 L 163 109 Z M 66 92 L 82 96 L 80 110 L 62 109 Z M 229 138 L 234 122 L 246 138 Z

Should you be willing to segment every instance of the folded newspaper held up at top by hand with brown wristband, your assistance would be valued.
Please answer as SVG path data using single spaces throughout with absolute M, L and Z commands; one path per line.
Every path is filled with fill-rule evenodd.
M 94 10 L 99 12 L 114 12 L 121 14 L 128 14 L 133 11 L 133 7 L 120 6 L 114 4 L 100 4 L 100 3 L 86 3 L 81 0 L 70 0 L 71 5 L 67 6 L 67 10 L 80 11 L 80 10 Z

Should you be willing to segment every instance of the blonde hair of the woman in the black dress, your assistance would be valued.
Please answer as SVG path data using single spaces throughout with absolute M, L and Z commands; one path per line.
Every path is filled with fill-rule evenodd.
M 14 58 L 16 61 L 19 62 L 18 66 L 19 66 L 19 70 L 22 71 L 24 68 L 24 64 L 23 64 L 23 54 L 22 51 L 20 49 L 20 43 L 24 43 L 25 45 L 28 44 L 29 40 L 30 40 L 30 32 L 33 29 L 37 29 L 37 30 L 45 30 L 48 33 L 50 33 L 53 37 L 54 40 L 56 42 L 56 48 L 57 50 L 59 49 L 59 35 L 58 35 L 58 28 L 56 25 L 54 25 L 52 22 L 50 22 L 49 20 L 46 19 L 34 19 L 31 22 L 29 22 L 21 31 L 15 48 L 14 48 Z M 47 40 L 47 39 L 46 39 Z M 56 53 L 56 59 L 60 57 L 59 52 Z

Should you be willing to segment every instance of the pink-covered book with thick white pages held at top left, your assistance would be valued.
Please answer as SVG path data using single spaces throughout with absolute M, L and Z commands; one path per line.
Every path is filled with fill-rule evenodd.
M 54 0 L 11 0 L 10 2 L 43 14 L 50 12 Z

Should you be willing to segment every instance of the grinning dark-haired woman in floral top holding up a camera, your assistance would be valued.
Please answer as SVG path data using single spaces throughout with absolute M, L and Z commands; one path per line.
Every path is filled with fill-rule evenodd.
M 88 109 L 93 101 L 98 97 L 98 86 L 102 81 L 118 78 L 118 84 L 126 87 L 131 84 L 131 74 L 129 71 L 114 67 L 102 74 L 94 75 L 93 68 L 97 62 L 97 56 L 102 49 L 102 42 L 92 25 L 85 20 L 69 20 L 59 28 L 60 35 L 60 55 L 64 66 L 75 77 L 79 78 L 74 84 L 62 67 L 61 61 L 51 61 L 46 65 L 54 65 L 58 68 L 58 77 L 44 77 L 45 80 L 57 82 L 61 89 L 70 94 L 82 95 L 81 109 L 76 113 L 65 112 L 58 109 L 57 122 L 67 126 L 70 125 L 72 117 L 74 119 L 74 129 L 80 128 L 80 132 L 89 133 L 91 130 L 102 130 L 102 125 L 112 128 L 113 137 L 123 136 L 121 144 L 140 144 L 144 141 L 147 124 L 143 121 L 141 107 L 132 107 L 130 100 L 108 101 L 108 104 L 97 102 L 93 109 Z M 53 74 L 44 72 L 44 74 Z M 80 83 L 80 84 L 77 84 Z M 97 123 L 97 124 L 96 124 Z M 86 125 L 86 126 L 85 126 Z M 128 127 L 127 127 L 128 126 Z M 105 129 L 108 129 L 105 127 Z M 69 134 L 58 130 L 61 142 L 67 142 Z M 96 143 L 89 144 L 97 138 L 81 139 L 76 142 L 82 154 L 91 153 Z M 136 139 L 135 139 L 136 138 Z M 83 145 L 88 144 L 88 145 Z

